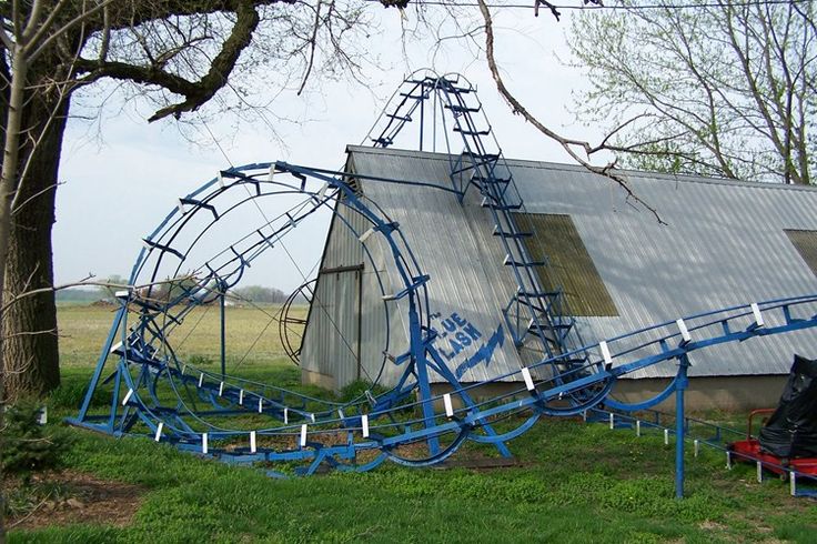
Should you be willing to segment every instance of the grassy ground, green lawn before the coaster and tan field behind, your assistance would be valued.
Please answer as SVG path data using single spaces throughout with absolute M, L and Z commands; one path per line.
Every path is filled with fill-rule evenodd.
M 255 341 L 269 318 L 253 313 L 230 310 L 231 340 Z M 184 342 L 189 356 L 210 364 L 219 353 L 215 316 L 213 309 Z M 111 318 L 105 309 L 60 310 L 63 386 L 52 415 L 74 412 Z M 229 361 L 294 384 L 297 369 L 281 359 L 274 326 L 258 353 L 239 364 L 236 350 Z M 123 513 L 124 523 L 114 514 L 104 523 L 12 530 L 11 542 L 817 542 L 817 503 L 788 496 L 776 478 L 756 483 L 753 466 L 726 471 L 722 453 L 689 452 L 688 496 L 676 501 L 672 441 L 581 421 L 543 421 L 512 442 L 516 467 L 384 465 L 284 481 L 149 440 L 72 434 L 69 470 L 137 485 L 135 514 Z

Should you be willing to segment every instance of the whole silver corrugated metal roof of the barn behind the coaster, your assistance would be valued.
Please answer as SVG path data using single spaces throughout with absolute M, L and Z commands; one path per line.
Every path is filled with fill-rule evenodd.
M 448 155 L 350 147 L 356 171 L 450 187 Z M 568 214 L 619 312 L 579 318 L 585 341 L 616 336 L 707 310 L 817 292 L 817 278 L 786 230 L 817 230 L 817 190 L 629 172 L 635 193 L 666 225 L 628 202 L 614 182 L 581 167 L 508 161 L 531 213 Z M 476 191 L 464 205 L 438 190 L 364 182 L 364 193 L 401 223 L 421 268 L 432 276 L 432 310 L 467 314 L 483 333 L 502 322 L 514 290 L 492 222 Z M 696 352 L 690 375 L 779 374 L 793 352 L 817 355 L 804 331 Z M 518 367 L 511 342 L 478 381 Z M 674 375 L 672 363 L 637 377 Z

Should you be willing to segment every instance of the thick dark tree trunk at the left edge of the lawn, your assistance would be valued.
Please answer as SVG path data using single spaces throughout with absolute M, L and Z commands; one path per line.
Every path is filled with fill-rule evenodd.
M 69 99 L 57 107 L 57 102 L 49 102 L 37 97 L 24 110 L 23 127 L 41 130 L 48 124 L 48 129 L 36 147 L 30 139 L 21 144 L 21 164 L 28 162 L 29 167 L 16 199 L 18 209 L 12 215 L 4 282 L 7 301 L 27 291 L 53 285 L 51 230 Z M 20 395 L 42 396 L 60 384 L 57 306 L 52 291 L 13 302 L 3 315 L 2 333 L 7 402 Z

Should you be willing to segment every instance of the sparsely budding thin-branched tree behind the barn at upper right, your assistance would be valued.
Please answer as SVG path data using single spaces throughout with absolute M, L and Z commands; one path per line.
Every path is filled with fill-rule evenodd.
M 814 2 L 624 3 L 574 18 L 568 42 L 592 82 L 577 113 L 626 165 L 814 181 Z

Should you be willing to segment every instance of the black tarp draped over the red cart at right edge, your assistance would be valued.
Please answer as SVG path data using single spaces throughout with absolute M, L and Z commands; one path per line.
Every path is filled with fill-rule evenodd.
M 783 459 L 817 457 L 817 360 L 795 355 L 780 403 L 760 429 L 760 449 Z

